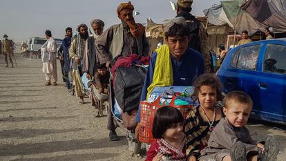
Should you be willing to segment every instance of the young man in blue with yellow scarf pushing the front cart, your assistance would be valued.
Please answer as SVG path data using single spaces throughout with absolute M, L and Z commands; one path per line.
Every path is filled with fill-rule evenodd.
M 194 79 L 204 73 L 204 59 L 198 51 L 188 48 L 189 30 L 183 17 L 164 23 L 166 44 L 155 50 L 146 73 L 141 100 L 153 101 L 156 86 L 192 86 Z M 162 74 L 163 73 L 163 74 Z M 150 97 L 149 97 L 150 96 Z M 141 108 L 136 121 L 140 122 Z M 140 129 L 136 127 L 136 134 Z

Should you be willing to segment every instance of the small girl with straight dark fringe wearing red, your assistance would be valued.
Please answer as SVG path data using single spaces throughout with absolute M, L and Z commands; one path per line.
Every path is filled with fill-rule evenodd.
M 159 108 L 153 122 L 156 139 L 147 152 L 146 161 L 186 160 L 183 131 L 184 117 L 171 106 Z

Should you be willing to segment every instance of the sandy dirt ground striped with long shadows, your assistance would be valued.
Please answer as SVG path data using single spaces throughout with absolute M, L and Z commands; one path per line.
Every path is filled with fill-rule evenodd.
M 107 117 L 95 117 L 88 98 L 77 104 L 62 82 L 59 62 L 57 86 L 44 86 L 40 59 L 18 54 L 15 68 L 4 65 L 0 57 L 0 160 L 144 160 L 127 150 L 121 129 L 120 141 L 108 140 Z M 286 132 L 275 126 L 251 122 L 249 130 L 259 140 L 275 135 L 281 146 L 278 160 L 284 161 Z

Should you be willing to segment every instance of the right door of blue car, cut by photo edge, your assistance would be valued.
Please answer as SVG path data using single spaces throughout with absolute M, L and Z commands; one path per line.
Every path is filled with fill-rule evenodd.
M 264 120 L 286 122 L 286 43 L 267 44 L 258 71 L 260 106 L 254 112 Z

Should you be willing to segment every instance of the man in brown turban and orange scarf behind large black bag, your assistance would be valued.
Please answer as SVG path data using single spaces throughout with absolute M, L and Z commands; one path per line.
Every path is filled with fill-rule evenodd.
M 117 57 L 126 57 L 136 54 L 147 56 L 149 54 L 149 44 L 145 36 L 145 28 L 141 23 L 135 23 L 133 18 L 134 6 L 128 3 L 120 3 L 117 7 L 117 16 L 122 21 L 106 29 L 95 41 L 97 45 L 97 54 L 100 64 L 106 63 L 110 67 L 111 59 Z M 115 132 L 115 125 L 111 114 L 111 108 L 108 109 L 107 129 L 111 131 L 109 138 L 111 141 L 119 140 Z

